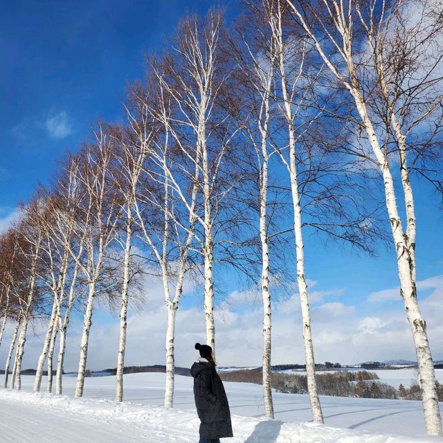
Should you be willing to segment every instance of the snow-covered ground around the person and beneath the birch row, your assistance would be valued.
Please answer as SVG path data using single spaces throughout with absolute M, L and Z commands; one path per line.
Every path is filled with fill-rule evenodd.
M 72 396 L 75 377 L 64 377 L 63 396 L 31 393 L 33 379 L 22 377 L 22 392 L 0 389 L 1 443 L 198 442 L 190 377 L 176 377 L 174 410 L 161 406 L 161 373 L 125 375 L 123 404 L 112 401 L 115 377 L 87 379 L 83 399 Z M 226 443 L 443 442 L 424 436 L 418 401 L 321 397 L 325 426 L 319 426 L 309 423 L 307 395 L 274 393 L 276 419 L 269 422 L 261 386 L 225 386 L 235 433 Z

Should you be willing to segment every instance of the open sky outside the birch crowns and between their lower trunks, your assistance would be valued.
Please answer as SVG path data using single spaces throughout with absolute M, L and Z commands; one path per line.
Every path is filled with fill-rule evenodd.
M 186 11 L 204 13 L 214 4 L 204 0 L 103 0 L 11 1 L 2 6 L 0 229 L 8 225 L 18 201 L 30 197 L 37 181 L 46 183 L 50 179 L 66 149 L 78 147 L 88 134 L 89 124 L 97 118 L 108 121 L 120 118 L 125 84 L 143 76 L 143 52 L 160 49 L 164 37 L 172 34 L 179 17 Z M 221 4 L 228 6 L 232 13 L 235 1 L 224 0 Z M 414 186 L 417 277 L 422 282 L 419 295 L 430 317 L 427 320 L 433 354 L 443 359 L 440 326 L 443 278 L 438 277 L 443 275 L 442 211 L 429 186 L 424 183 L 414 183 Z M 413 359 L 403 307 L 395 291 L 392 296 L 392 289 L 398 286 L 392 246 L 389 245 L 388 250 L 379 248 L 378 257 L 373 258 L 357 255 L 345 246 L 325 247 L 315 236 L 307 235 L 305 240 L 307 278 L 314 293 L 313 317 L 318 319 L 314 323 L 318 361 Z M 217 317 L 222 348 L 219 359 L 224 359 L 226 364 L 246 364 L 244 359 L 248 358 L 251 364 L 260 364 L 260 299 L 253 293 L 242 292 L 236 287 L 235 279 L 226 288 L 230 304 L 220 302 Z M 155 332 L 159 334 L 160 343 L 156 350 L 147 350 L 144 356 L 138 352 L 146 328 L 149 329 L 147 325 L 157 324 L 153 313 L 163 320 L 165 317 L 161 297 L 159 300 L 161 290 L 156 282 L 147 284 L 147 293 L 150 312 L 133 311 L 129 322 L 129 340 L 134 334 L 134 349 L 129 347 L 128 364 L 163 361 L 164 331 L 160 326 Z M 179 320 L 179 327 L 183 328 L 179 340 L 183 340 L 183 347 L 186 347 L 186 337 L 189 341 L 203 339 L 201 313 L 192 293 L 190 289 L 183 299 L 183 320 Z M 286 313 L 284 307 L 287 307 Z M 302 361 L 297 329 L 299 310 L 291 291 L 286 299 L 278 300 L 275 311 L 281 330 L 277 329 L 275 334 L 273 362 Z M 100 341 L 100 337 L 105 340 L 109 323 L 113 321 L 110 315 L 102 313 L 97 317 L 93 332 L 96 335 L 91 340 Z M 199 316 L 199 320 L 194 322 L 193 316 Z M 163 325 L 163 320 L 158 320 L 158 324 Z M 79 328 L 80 323 L 74 323 L 73 340 L 78 340 Z M 353 330 L 360 331 L 360 336 L 356 334 L 356 338 L 351 339 Z M 285 334 L 292 347 L 287 343 L 282 345 L 280 338 Z M 28 354 L 30 365 L 41 338 L 37 336 L 30 341 L 36 349 Z M 240 358 L 233 350 L 233 343 L 242 346 L 242 340 L 248 343 L 251 352 L 243 353 Z M 114 343 L 102 343 L 102 354 L 91 356 L 91 367 L 113 366 L 112 346 Z M 74 369 L 76 352 L 74 349 L 71 357 L 67 357 L 67 361 L 71 361 L 69 369 Z M 186 352 L 180 352 L 177 363 L 186 365 Z

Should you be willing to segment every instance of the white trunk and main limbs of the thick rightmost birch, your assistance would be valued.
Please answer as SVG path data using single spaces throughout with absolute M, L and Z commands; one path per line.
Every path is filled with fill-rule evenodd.
M 404 199 L 406 204 L 406 216 L 408 217 L 406 235 L 401 226 L 401 219 L 397 210 L 397 202 L 395 199 L 395 188 L 394 182 L 392 180 L 392 174 L 389 169 L 388 159 L 383 155 L 383 151 L 379 145 L 377 134 L 375 134 L 374 127 L 372 125 L 372 120 L 366 109 L 365 102 L 358 89 L 358 80 L 356 77 L 356 71 L 354 66 L 354 60 L 352 59 L 352 42 L 350 41 L 352 33 L 347 28 L 347 26 L 352 27 L 352 22 L 349 24 L 345 23 L 345 15 L 340 12 L 338 4 L 335 5 L 338 11 L 338 21 L 337 29 L 343 37 L 343 47 L 342 57 L 347 64 L 349 70 L 351 82 L 348 82 L 343 76 L 338 73 L 335 66 L 329 60 L 327 55 L 323 52 L 323 48 L 320 46 L 318 39 L 312 33 L 311 28 L 307 25 L 306 21 L 303 19 L 300 11 L 294 6 L 291 0 L 287 0 L 287 3 L 291 7 L 291 10 L 296 14 L 298 19 L 307 31 L 309 37 L 314 41 L 314 45 L 323 61 L 328 66 L 328 68 L 334 73 L 336 78 L 343 82 L 346 89 L 350 92 L 354 98 L 356 109 L 359 112 L 359 116 L 365 127 L 365 132 L 368 134 L 370 145 L 372 151 L 377 157 L 379 162 L 379 167 L 381 169 L 381 174 L 383 175 L 383 183 L 385 188 L 385 199 L 386 208 L 388 210 L 388 216 L 390 219 L 390 226 L 392 229 L 392 240 L 394 242 L 395 251 L 397 253 L 397 269 L 399 273 L 400 280 L 400 293 L 404 300 L 404 307 L 406 309 L 406 316 L 410 325 L 410 329 L 413 334 L 413 340 L 415 344 L 415 351 L 417 354 L 417 363 L 419 368 L 419 382 L 420 388 L 422 390 L 422 402 L 424 409 L 424 422 L 426 427 L 426 433 L 431 435 L 443 435 L 442 431 L 442 420 L 440 418 L 440 408 L 437 399 L 437 390 L 435 386 L 435 370 L 433 367 L 433 359 L 431 354 L 431 348 L 428 343 L 428 336 L 426 333 L 426 322 L 419 311 L 419 306 L 417 302 L 417 293 L 415 289 L 415 215 L 413 213 L 413 193 L 412 188 L 410 188 L 410 183 L 406 182 L 406 174 L 401 171 L 402 184 L 404 186 Z M 394 122 L 395 125 L 395 122 Z M 404 140 L 401 134 L 398 134 L 397 129 L 394 127 L 399 140 L 399 154 L 400 162 L 402 163 L 406 160 L 406 157 L 402 159 L 401 143 Z M 400 136 L 399 136 L 400 135 Z M 406 163 L 405 163 L 406 165 Z M 400 166 L 403 167 L 402 165 Z M 412 217 L 410 217 L 412 215 Z M 410 235 L 413 241 L 408 242 L 405 237 Z

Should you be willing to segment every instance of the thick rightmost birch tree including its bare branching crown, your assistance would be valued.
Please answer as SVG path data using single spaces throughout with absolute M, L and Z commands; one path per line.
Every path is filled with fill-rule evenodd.
M 426 93 L 428 82 L 433 87 L 440 83 L 441 76 L 435 75 L 435 72 L 440 65 L 441 51 L 430 54 L 424 50 L 428 44 L 432 47 L 432 42 L 439 37 L 442 22 L 441 11 L 440 14 L 438 13 L 440 6 L 427 1 L 400 0 L 392 2 L 389 8 L 383 0 L 373 0 L 369 3 L 359 0 L 345 3 L 323 0 L 315 5 L 309 5 L 305 1 L 286 1 L 294 19 L 305 31 L 310 44 L 315 48 L 327 69 L 350 94 L 356 114 L 359 116 L 358 125 L 368 138 L 374 163 L 379 168 L 384 184 L 392 242 L 397 255 L 400 295 L 404 301 L 417 354 L 426 432 L 432 435 L 442 435 L 431 348 L 426 333 L 426 322 L 417 302 L 415 287 L 415 210 L 413 189 L 410 183 L 411 169 L 408 166 L 406 150 L 407 136 L 413 138 L 412 129 L 417 123 L 431 116 L 434 111 L 439 110 L 441 102 L 440 94 L 437 94 L 437 100 L 431 102 L 426 100 L 422 106 L 419 106 L 420 100 L 417 100 L 419 96 Z M 408 8 L 417 6 L 422 12 L 414 23 L 415 19 L 411 18 L 413 15 L 410 14 Z M 408 26 L 408 21 L 410 26 Z M 412 24 L 411 21 L 413 21 Z M 404 32 L 405 28 L 415 28 L 415 30 L 413 33 L 408 33 Z M 389 47 L 395 48 L 395 52 L 390 54 L 386 51 Z M 417 70 L 410 69 L 413 66 L 410 60 L 415 59 L 408 59 L 408 56 L 414 53 L 419 60 L 423 60 L 424 73 L 423 71 L 417 73 Z M 389 59 L 389 55 L 394 55 L 394 57 Z M 425 61 L 422 58 L 424 55 L 431 56 L 433 60 Z M 414 71 L 417 74 L 414 74 Z M 391 78 L 390 73 L 394 73 Z M 404 76 L 405 73 L 406 76 Z M 402 76 L 406 82 L 401 81 Z M 392 82 L 392 80 L 396 81 Z M 395 83 L 397 87 L 394 86 Z M 376 98 L 372 93 L 372 88 L 381 92 L 379 97 Z M 403 93 L 399 95 L 401 89 Z M 404 113 L 408 109 L 407 105 L 411 104 L 408 96 L 412 96 L 412 102 L 416 105 L 415 110 L 420 109 L 418 118 L 415 116 L 412 120 L 408 120 L 408 115 Z M 403 100 L 405 97 L 406 100 Z M 368 98 L 369 101 L 376 100 L 379 107 L 386 109 L 384 114 L 387 119 L 384 120 L 384 128 L 383 125 L 377 124 L 377 114 L 374 115 L 374 112 L 371 112 Z M 379 100 L 382 100 L 383 104 Z M 396 188 L 392 173 L 395 160 L 392 155 L 389 155 L 391 134 L 399 157 L 402 192 Z M 398 197 L 404 199 L 406 207 L 404 221 L 399 215 Z

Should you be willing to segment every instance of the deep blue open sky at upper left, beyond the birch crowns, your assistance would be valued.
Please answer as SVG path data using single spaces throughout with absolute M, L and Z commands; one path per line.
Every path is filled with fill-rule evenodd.
M 224 1 L 224 4 L 228 2 Z M 0 190 L 4 208 L 46 181 L 90 123 L 116 120 L 143 52 L 204 0 L 6 2 L 0 12 Z

